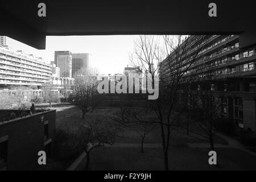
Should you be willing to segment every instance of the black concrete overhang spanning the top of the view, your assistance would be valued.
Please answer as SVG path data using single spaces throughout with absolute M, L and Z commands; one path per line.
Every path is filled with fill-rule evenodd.
M 48 35 L 240 34 L 240 47 L 256 42 L 255 0 L 214 0 L 217 17 L 209 17 L 208 0 L 0 2 L 0 35 L 38 49 Z M 39 3 L 46 17 L 38 16 Z

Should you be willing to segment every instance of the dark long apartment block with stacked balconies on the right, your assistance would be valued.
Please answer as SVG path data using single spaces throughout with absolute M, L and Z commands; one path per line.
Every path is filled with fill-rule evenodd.
M 191 90 L 223 93 L 221 117 L 229 118 L 245 130 L 256 130 L 256 43 L 240 48 L 238 35 L 189 36 L 181 56 L 181 84 Z M 203 40 L 203 41 L 201 41 Z M 181 46 L 183 46 L 181 44 Z M 175 53 L 170 56 L 175 57 Z M 160 78 L 170 81 L 166 61 Z M 197 96 L 191 94 L 191 104 Z

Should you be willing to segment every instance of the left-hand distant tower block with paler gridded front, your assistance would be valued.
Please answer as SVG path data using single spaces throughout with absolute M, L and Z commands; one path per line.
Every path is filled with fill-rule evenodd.
M 60 68 L 60 77 L 72 77 L 72 53 L 70 51 L 55 51 L 54 61 Z

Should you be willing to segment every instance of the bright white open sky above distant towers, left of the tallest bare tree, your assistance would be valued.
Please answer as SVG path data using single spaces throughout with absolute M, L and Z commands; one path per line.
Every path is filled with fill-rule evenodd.
M 48 63 L 54 61 L 54 51 L 72 53 L 90 53 L 89 64 L 100 73 L 123 73 L 133 51 L 134 40 L 138 35 L 102 35 L 102 36 L 47 36 L 46 49 L 39 50 L 14 39 L 7 38 L 6 44 L 14 50 L 32 53 L 43 57 Z

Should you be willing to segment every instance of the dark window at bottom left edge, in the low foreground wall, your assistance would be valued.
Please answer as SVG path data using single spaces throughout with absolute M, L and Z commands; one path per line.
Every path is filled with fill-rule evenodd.
M 8 136 L 0 138 L 0 169 L 6 168 L 8 154 Z

